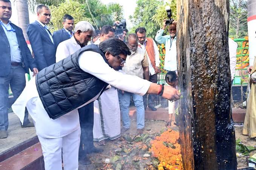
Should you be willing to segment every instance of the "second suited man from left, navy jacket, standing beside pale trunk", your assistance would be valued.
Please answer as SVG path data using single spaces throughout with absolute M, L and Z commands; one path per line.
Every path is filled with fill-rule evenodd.
M 56 62 L 56 48 L 52 34 L 46 26 L 50 20 L 50 9 L 45 5 L 39 5 L 37 6 L 37 20 L 29 24 L 27 29 L 38 71 Z

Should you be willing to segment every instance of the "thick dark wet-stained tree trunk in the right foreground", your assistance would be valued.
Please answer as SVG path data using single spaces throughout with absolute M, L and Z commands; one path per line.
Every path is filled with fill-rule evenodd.
M 236 170 L 228 0 L 177 0 L 181 153 L 185 170 Z

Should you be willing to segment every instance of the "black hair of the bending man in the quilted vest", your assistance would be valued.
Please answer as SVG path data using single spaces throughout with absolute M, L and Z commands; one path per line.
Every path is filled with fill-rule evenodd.
M 125 56 L 131 55 L 131 52 L 126 44 L 122 40 L 117 38 L 109 38 L 105 41 L 102 41 L 99 47 L 104 54 L 106 54 L 106 52 L 109 52 L 113 56 L 120 54 L 123 54 Z

